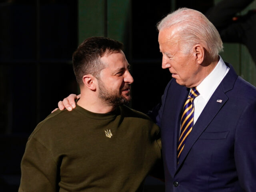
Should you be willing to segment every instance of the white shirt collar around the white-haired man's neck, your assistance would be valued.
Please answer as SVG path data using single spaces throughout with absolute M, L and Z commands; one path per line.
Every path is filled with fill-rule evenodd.
M 229 68 L 220 57 L 220 60 L 212 72 L 210 72 L 210 74 L 206 76 L 206 78 L 204 78 L 204 80 L 196 87 L 200 96 L 205 100 L 209 100 L 212 93 L 216 90 L 224 76 L 227 74 L 228 69 Z

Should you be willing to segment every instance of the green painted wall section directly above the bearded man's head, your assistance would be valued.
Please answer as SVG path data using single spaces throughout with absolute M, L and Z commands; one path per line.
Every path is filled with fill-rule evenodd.
M 78 41 L 105 36 L 125 42 L 130 0 L 78 0 Z

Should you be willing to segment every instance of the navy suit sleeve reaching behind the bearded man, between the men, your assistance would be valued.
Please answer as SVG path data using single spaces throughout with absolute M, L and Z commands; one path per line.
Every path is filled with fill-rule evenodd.
M 161 123 L 162 114 L 163 114 L 163 110 L 164 110 L 164 103 L 165 103 L 166 96 L 167 96 L 168 90 L 170 88 L 171 82 L 172 82 L 172 80 L 167 84 L 160 102 L 151 111 L 148 111 L 148 113 L 147 113 L 147 115 L 150 116 L 150 118 L 158 126 L 160 126 L 160 123 Z

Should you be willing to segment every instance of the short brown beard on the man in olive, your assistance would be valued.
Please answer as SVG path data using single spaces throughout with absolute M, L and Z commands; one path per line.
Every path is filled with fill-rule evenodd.
M 101 80 L 98 80 L 98 86 L 99 98 L 104 101 L 108 106 L 117 107 L 127 104 L 130 101 L 130 99 L 126 99 L 124 96 L 122 96 L 122 90 L 130 88 L 130 84 L 124 84 L 124 87 L 116 91 L 106 89 L 104 83 Z M 126 94 L 126 96 L 130 96 L 130 92 Z

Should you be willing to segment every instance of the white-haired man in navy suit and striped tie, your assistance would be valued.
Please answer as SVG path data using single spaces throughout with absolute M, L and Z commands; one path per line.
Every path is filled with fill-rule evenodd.
M 178 9 L 158 30 L 173 78 L 149 115 L 161 128 L 166 192 L 255 192 L 256 88 L 218 55 L 222 40 L 202 13 Z

